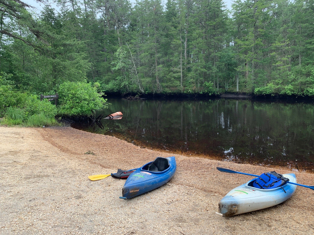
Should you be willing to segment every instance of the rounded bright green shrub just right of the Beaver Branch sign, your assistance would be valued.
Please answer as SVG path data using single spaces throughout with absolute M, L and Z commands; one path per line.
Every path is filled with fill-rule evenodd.
M 65 82 L 58 88 L 61 116 L 90 116 L 106 108 L 106 99 L 86 82 Z

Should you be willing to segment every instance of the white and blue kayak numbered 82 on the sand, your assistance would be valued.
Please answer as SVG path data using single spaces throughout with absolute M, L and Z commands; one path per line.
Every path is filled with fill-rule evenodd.
M 235 189 L 232 189 L 219 202 L 219 212 L 216 214 L 223 217 L 239 215 L 254 210 L 261 210 L 278 205 L 288 200 L 294 194 L 296 186 L 295 174 L 283 174 L 289 178 L 289 182 L 274 189 L 258 189 L 253 187 L 252 179 Z

